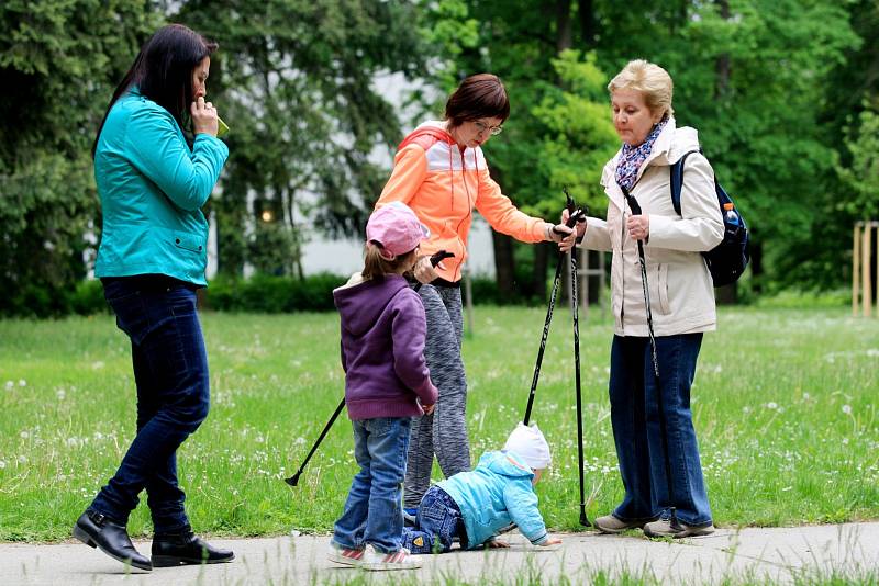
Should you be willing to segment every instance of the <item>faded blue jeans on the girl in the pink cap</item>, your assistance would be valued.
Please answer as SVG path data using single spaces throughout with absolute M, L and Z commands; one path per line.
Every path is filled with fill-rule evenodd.
M 343 548 L 367 543 L 383 553 L 399 551 L 403 534 L 402 483 L 409 450 L 410 417 L 352 421 L 354 476 L 345 510 L 335 522 L 333 541 Z

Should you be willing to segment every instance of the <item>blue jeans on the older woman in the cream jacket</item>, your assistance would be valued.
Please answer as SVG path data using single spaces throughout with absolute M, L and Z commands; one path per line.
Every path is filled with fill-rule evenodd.
M 625 487 L 613 515 L 623 521 L 650 520 L 676 507 L 678 519 L 689 526 L 711 523 L 690 410 L 701 346 L 702 334 L 657 337 L 657 387 L 649 339 L 613 338 L 611 422 Z

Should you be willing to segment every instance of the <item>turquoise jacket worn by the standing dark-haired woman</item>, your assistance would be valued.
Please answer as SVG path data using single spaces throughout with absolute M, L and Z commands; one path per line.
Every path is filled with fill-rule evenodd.
M 120 98 L 94 151 L 103 233 L 97 277 L 166 274 L 205 285 L 208 201 L 229 148 L 199 134 L 189 148 L 170 113 L 137 88 Z

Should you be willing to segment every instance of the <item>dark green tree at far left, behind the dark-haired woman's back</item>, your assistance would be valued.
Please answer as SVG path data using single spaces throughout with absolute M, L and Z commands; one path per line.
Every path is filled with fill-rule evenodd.
M 0 4 L 0 313 L 62 311 L 97 234 L 91 143 L 156 27 L 146 0 Z

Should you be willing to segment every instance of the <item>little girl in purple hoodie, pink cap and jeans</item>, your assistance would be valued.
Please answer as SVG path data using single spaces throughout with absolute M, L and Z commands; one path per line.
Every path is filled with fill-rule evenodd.
M 412 417 L 433 412 L 437 391 L 424 362 L 424 306 L 403 274 L 426 236 L 405 204 L 382 206 L 366 225 L 364 270 L 333 291 L 360 471 L 335 522 L 330 560 L 366 570 L 421 565 L 402 546 L 401 485 Z

